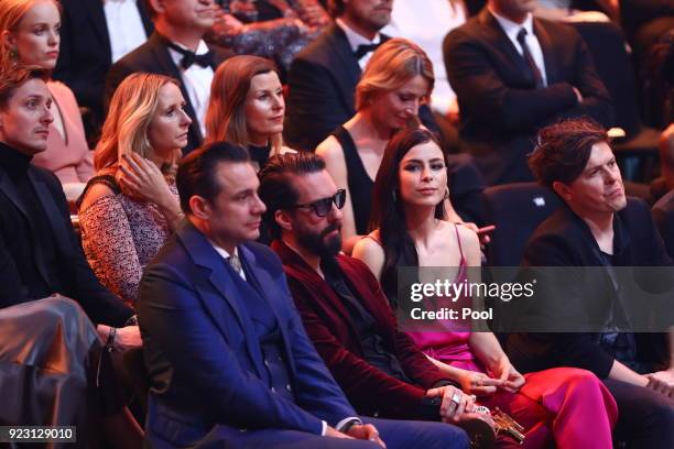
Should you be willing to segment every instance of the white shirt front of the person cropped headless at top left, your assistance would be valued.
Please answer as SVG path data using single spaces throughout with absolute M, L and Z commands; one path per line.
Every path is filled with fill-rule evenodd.
M 90 1 L 90 0 L 89 0 Z M 148 40 L 138 0 L 102 0 L 112 64 Z

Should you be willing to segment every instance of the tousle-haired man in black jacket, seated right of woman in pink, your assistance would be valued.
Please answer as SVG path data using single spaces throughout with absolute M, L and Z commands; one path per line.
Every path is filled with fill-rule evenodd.
M 620 169 L 601 127 L 587 119 L 567 120 L 544 128 L 537 140 L 531 168 L 564 206 L 534 232 L 524 252 L 525 266 L 672 265 L 648 206 L 626 198 Z M 607 274 L 580 278 L 563 288 L 567 304 L 590 305 L 606 297 L 619 307 L 624 299 L 620 285 L 619 278 Z M 583 319 L 583 310 L 563 311 L 570 319 Z M 555 317 L 564 318 L 561 314 Z M 672 363 L 668 354 L 653 358 L 659 352 L 657 340 L 663 343 L 664 339 L 662 335 L 611 331 L 512 333 L 508 354 L 524 372 L 563 365 L 590 370 L 618 403 L 620 439 L 639 448 L 671 448 L 674 368 L 666 366 Z

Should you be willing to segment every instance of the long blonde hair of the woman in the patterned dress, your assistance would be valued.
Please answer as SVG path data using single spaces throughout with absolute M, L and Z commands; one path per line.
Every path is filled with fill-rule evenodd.
M 150 157 L 152 145 L 148 129 L 159 107 L 160 89 L 168 83 L 180 87 L 174 78 L 145 73 L 132 74 L 119 85 L 110 100 L 110 110 L 94 153 L 97 172 L 116 172 L 121 156 L 131 152 Z M 176 149 L 166 166 L 162 167 L 164 174 L 173 175 L 180 155 L 181 151 Z

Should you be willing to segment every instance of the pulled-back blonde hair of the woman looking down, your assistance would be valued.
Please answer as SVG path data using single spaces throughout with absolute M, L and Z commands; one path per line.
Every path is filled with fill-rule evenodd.
M 356 110 L 366 108 L 382 94 L 401 88 L 417 75 L 428 83 L 423 98 L 428 101 L 435 84 L 431 59 L 422 47 L 406 39 L 388 40 L 372 54 L 356 86 Z

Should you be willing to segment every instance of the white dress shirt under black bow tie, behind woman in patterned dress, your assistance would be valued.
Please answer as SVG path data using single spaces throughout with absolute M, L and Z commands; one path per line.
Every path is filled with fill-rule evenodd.
M 174 42 L 175 45 L 188 50 L 184 45 Z M 173 48 L 168 48 L 168 53 L 171 54 L 171 58 L 175 63 L 178 70 L 181 70 L 181 76 L 183 78 L 183 85 L 185 86 L 185 90 L 187 90 L 187 95 L 189 96 L 189 102 L 194 108 L 194 113 L 197 117 L 197 122 L 199 124 L 199 129 L 202 130 L 202 135 L 206 135 L 206 110 L 208 109 L 208 99 L 210 98 L 210 83 L 213 81 L 214 72 L 210 67 L 202 67 L 198 64 L 193 64 L 188 69 L 184 69 L 181 66 L 181 61 L 183 61 L 183 55 L 180 52 L 176 52 Z M 208 53 L 208 45 L 202 40 L 199 41 L 199 45 L 197 46 L 196 54 L 203 55 Z

